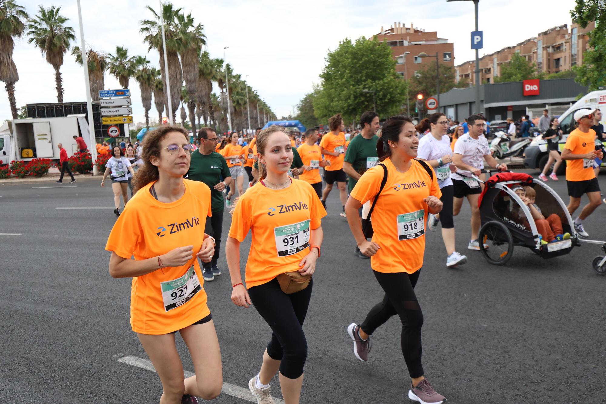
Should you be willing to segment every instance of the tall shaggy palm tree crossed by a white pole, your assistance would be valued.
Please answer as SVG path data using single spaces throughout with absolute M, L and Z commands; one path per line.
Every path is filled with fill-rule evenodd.
M 160 71 L 162 73 L 162 81 L 166 88 L 166 73 L 164 70 L 164 51 L 162 49 L 162 27 L 160 24 L 160 16 L 150 6 L 146 6 L 153 13 L 153 20 L 144 19 L 141 21 L 140 33 L 145 35 L 144 41 L 147 42 L 151 49 L 158 50 L 160 55 Z M 170 79 L 170 99 L 171 109 L 173 110 L 173 122 L 177 114 L 177 107 L 181 99 L 181 84 L 183 82 L 181 76 L 181 63 L 179 62 L 179 51 L 183 47 L 182 38 L 178 36 L 178 16 L 182 8 L 173 8 L 171 3 L 162 4 L 162 18 L 164 19 L 164 33 L 166 41 L 166 56 L 168 62 L 168 78 Z

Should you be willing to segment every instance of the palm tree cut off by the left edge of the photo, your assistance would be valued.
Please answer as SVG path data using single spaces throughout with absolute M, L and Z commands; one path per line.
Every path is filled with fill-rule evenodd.
M 6 83 L 10 112 L 15 120 L 18 116 L 15 83 L 19 81 L 19 73 L 13 61 L 13 38 L 21 38 L 28 18 L 22 5 L 15 4 L 13 0 L 0 0 L 0 81 Z

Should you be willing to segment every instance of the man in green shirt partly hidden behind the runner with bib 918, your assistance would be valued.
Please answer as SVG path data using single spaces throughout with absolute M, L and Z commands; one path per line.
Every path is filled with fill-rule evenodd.
M 345 152 L 345 161 L 343 162 L 343 172 L 347 174 L 349 179 L 348 194 L 356 186 L 362 174 L 367 169 L 375 167 L 379 163 L 377 154 L 379 136 L 376 133 L 381 126 L 379 125 L 378 113 L 375 111 L 362 113 L 360 127 L 362 128 L 362 132 L 350 141 Z M 355 254 L 360 258 L 370 258 L 362 254 L 358 247 L 356 247 Z

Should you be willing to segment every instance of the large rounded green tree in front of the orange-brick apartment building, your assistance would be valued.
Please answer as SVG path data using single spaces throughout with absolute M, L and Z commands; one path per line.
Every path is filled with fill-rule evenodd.
M 401 112 L 406 101 L 407 84 L 398 78 L 391 48 L 377 38 L 343 39 L 337 49 L 328 52 L 320 78 L 313 107 L 321 121 L 335 113 L 341 113 L 347 122 L 355 121 L 373 109 L 373 95 L 381 116 Z

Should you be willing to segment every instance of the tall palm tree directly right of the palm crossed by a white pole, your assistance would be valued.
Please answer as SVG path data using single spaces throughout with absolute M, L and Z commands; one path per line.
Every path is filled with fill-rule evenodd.
M 196 92 L 198 92 L 198 55 L 202 45 L 206 44 L 204 35 L 204 26 L 202 24 L 194 25 L 191 13 L 187 16 L 179 14 L 177 16 L 178 38 L 181 39 L 182 46 L 179 49 L 181 55 L 181 68 L 183 69 L 183 78 L 185 87 L 190 94 L 187 107 L 189 110 L 191 129 L 196 133 Z

